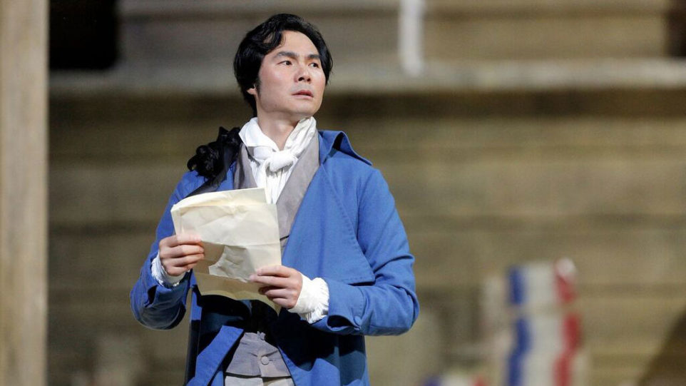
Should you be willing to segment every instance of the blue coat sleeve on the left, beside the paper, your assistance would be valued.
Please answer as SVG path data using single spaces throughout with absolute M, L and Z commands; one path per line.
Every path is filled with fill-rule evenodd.
M 150 247 L 148 258 L 140 269 L 140 277 L 133 285 L 130 293 L 131 309 L 138 322 L 146 327 L 162 330 L 178 325 L 185 314 L 185 300 L 190 288 L 188 275 L 174 288 L 166 288 L 153 278 L 150 265 L 158 254 L 160 240 L 174 233 L 171 219 L 171 207 L 193 191 L 193 181 L 189 181 L 190 173 L 178 183 L 155 233 L 155 242 Z

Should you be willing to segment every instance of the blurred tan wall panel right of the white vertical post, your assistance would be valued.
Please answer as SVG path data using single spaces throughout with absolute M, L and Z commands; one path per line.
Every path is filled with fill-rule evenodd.
M 664 57 L 668 1 L 426 1 L 428 59 Z

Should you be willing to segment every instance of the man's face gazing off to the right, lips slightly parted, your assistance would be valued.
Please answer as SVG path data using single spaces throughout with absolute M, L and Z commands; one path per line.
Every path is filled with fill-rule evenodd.
M 283 31 L 280 46 L 262 60 L 255 96 L 258 118 L 292 122 L 313 116 L 322 106 L 326 78 L 317 47 L 307 36 Z

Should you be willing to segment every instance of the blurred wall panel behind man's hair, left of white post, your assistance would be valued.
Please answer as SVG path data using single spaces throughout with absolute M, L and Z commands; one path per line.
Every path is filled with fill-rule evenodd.
M 247 31 L 280 12 L 299 14 L 316 25 L 334 63 L 396 57 L 396 1 L 290 1 L 286 6 L 280 1 L 176 0 L 123 1 L 123 61 L 209 61 L 231 72 Z

